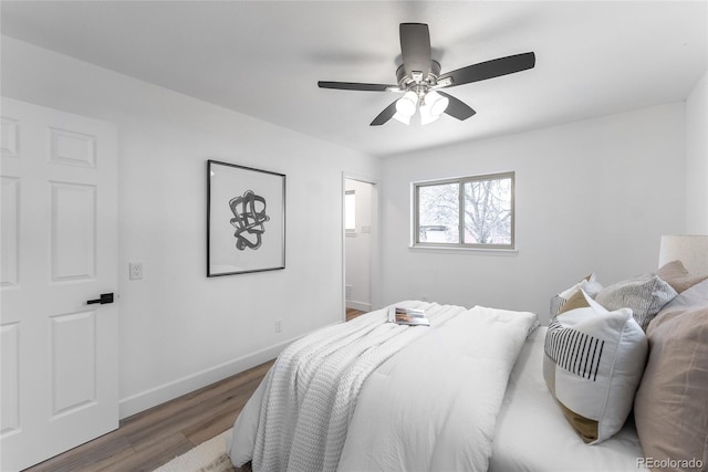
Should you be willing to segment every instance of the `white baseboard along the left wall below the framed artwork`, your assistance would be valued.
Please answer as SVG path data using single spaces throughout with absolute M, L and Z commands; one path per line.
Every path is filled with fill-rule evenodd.
M 278 357 L 281 350 L 300 336 L 284 340 L 274 346 L 249 354 L 248 356 L 223 363 L 219 366 L 183 377 L 175 381 L 152 388 L 140 394 L 123 398 L 118 401 L 118 415 L 121 419 L 127 418 L 140 411 L 174 400 L 177 397 L 198 390 L 236 374 L 248 370 L 270 359 Z

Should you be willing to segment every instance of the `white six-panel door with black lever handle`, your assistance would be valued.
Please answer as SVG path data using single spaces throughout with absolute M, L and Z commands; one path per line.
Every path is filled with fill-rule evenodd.
M 115 126 L 0 98 L 0 470 L 118 427 Z M 104 301 L 107 302 L 107 296 Z

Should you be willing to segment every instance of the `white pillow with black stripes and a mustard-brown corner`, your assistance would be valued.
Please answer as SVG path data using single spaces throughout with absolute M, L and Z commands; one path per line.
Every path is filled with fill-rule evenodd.
M 647 349 L 631 310 L 608 312 L 582 290 L 551 319 L 543 376 L 584 442 L 602 442 L 622 429 Z

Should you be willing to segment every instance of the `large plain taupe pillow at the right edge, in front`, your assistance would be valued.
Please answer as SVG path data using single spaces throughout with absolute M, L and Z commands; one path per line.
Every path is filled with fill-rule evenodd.
M 706 471 L 708 304 L 677 305 L 662 310 L 647 329 L 652 349 L 634 418 L 642 449 L 655 463 L 674 461 L 670 470 Z

